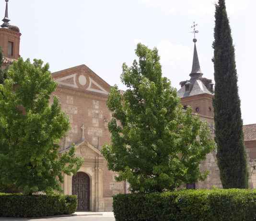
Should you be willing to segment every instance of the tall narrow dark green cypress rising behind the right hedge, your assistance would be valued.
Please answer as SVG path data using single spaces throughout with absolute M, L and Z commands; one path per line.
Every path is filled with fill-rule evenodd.
M 215 141 L 222 186 L 248 188 L 235 53 L 225 0 L 216 4 L 213 49 Z

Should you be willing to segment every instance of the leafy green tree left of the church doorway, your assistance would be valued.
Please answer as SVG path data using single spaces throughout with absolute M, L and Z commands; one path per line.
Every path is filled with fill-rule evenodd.
M 70 128 L 58 99 L 57 85 L 43 61 L 20 58 L 0 85 L 0 183 L 26 194 L 61 190 L 63 174 L 76 173 L 81 159 L 74 147 L 59 155 L 59 140 Z

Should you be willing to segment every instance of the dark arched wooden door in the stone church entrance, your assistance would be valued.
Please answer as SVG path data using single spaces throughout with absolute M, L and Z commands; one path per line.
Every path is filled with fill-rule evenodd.
M 90 178 L 83 172 L 72 177 L 72 195 L 77 195 L 78 211 L 90 210 Z

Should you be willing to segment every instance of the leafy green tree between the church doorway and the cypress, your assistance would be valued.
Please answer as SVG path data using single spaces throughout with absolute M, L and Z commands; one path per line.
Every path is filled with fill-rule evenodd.
M 123 64 L 122 82 L 128 89 L 111 89 L 107 106 L 111 144 L 102 153 L 117 181 L 128 180 L 132 192 L 162 192 L 203 180 L 199 164 L 214 148 L 206 122 L 180 105 L 176 89 L 162 77 L 160 57 L 138 44 L 134 60 Z

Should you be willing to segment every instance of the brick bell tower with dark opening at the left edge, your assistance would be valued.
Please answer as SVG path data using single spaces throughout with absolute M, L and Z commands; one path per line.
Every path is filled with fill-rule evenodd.
M 20 29 L 17 26 L 10 24 L 8 16 L 8 2 L 5 0 L 5 13 L 0 25 L 0 47 L 2 48 L 4 60 L 3 65 L 8 66 L 13 60 L 20 57 Z

